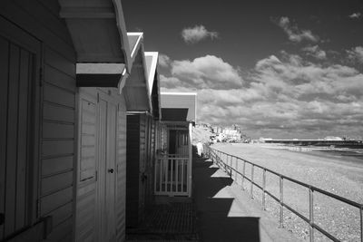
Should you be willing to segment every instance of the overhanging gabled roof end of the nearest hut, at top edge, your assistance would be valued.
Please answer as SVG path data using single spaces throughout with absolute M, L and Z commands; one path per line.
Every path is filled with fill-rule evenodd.
M 123 63 L 131 54 L 119 0 L 59 0 L 60 15 L 72 36 L 77 63 Z

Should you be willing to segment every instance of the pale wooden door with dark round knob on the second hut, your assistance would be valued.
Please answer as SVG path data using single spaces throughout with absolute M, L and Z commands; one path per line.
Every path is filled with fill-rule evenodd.
M 99 200 L 101 205 L 101 238 L 114 241 L 115 223 L 115 162 L 117 102 L 100 93 L 99 101 Z

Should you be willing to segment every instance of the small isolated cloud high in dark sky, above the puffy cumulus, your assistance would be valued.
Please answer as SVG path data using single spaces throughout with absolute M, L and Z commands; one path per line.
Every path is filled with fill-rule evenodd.
M 184 28 L 182 30 L 182 39 L 187 44 L 196 44 L 206 38 L 211 40 L 218 38 L 217 32 L 208 31 L 203 25 L 195 25 L 194 27 Z

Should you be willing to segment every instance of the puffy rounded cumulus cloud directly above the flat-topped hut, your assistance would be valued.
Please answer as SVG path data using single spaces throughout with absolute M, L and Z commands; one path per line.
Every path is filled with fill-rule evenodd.
M 206 55 L 194 60 L 172 61 L 172 77 L 163 77 L 168 88 L 240 88 L 242 78 L 238 69 L 214 55 Z

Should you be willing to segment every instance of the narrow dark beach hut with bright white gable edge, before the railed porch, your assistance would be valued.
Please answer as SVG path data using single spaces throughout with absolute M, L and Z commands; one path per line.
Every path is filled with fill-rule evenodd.
M 160 121 L 160 84 L 156 72 L 158 53 L 143 54 L 142 63 L 151 107 L 128 111 L 126 162 L 126 227 L 137 227 L 153 203 L 153 169 Z M 136 63 L 134 63 L 136 64 Z M 144 81 L 144 82 L 145 82 Z M 128 83 L 126 82 L 126 86 Z

